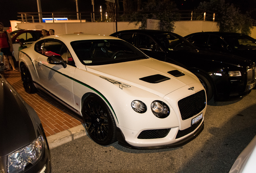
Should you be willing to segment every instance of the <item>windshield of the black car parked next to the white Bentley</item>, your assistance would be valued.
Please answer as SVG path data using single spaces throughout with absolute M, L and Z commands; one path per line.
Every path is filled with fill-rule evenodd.
M 196 49 L 188 40 L 175 34 L 159 34 L 156 35 L 156 39 L 166 50 Z

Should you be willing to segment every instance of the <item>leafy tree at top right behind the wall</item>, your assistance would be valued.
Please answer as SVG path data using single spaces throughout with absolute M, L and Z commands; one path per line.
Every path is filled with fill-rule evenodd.
M 246 14 L 241 14 L 239 8 L 225 0 L 210 0 L 200 2 L 198 10 L 213 11 L 216 13 L 215 21 L 218 22 L 221 32 L 241 32 L 251 34 L 252 20 Z

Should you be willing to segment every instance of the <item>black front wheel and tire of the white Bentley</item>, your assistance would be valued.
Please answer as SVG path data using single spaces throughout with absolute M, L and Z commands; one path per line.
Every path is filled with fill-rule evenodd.
M 89 95 L 83 103 L 82 115 L 87 133 L 100 145 L 116 141 L 116 123 L 106 103 L 97 95 Z

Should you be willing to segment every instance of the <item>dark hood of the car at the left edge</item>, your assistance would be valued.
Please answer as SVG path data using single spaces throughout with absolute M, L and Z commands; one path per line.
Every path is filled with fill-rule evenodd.
M 1 76 L 0 105 L 0 157 L 3 157 L 31 143 L 38 131 L 30 115 L 34 110 Z

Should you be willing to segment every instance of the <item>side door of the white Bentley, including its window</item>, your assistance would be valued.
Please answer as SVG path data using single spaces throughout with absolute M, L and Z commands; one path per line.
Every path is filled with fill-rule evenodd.
M 45 39 L 37 42 L 37 52 L 40 56 L 35 64 L 39 77 L 39 84 L 52 95 L 63 101 L 64 103 L 74 107 L 74 95 L 72 88 L 72 77 L 76 69 L 74 60 L 63 42 L 56 39 Z M 62 64 L 50 64 L 47 58 L 59 55 L 66 63 L 66 67 Z

